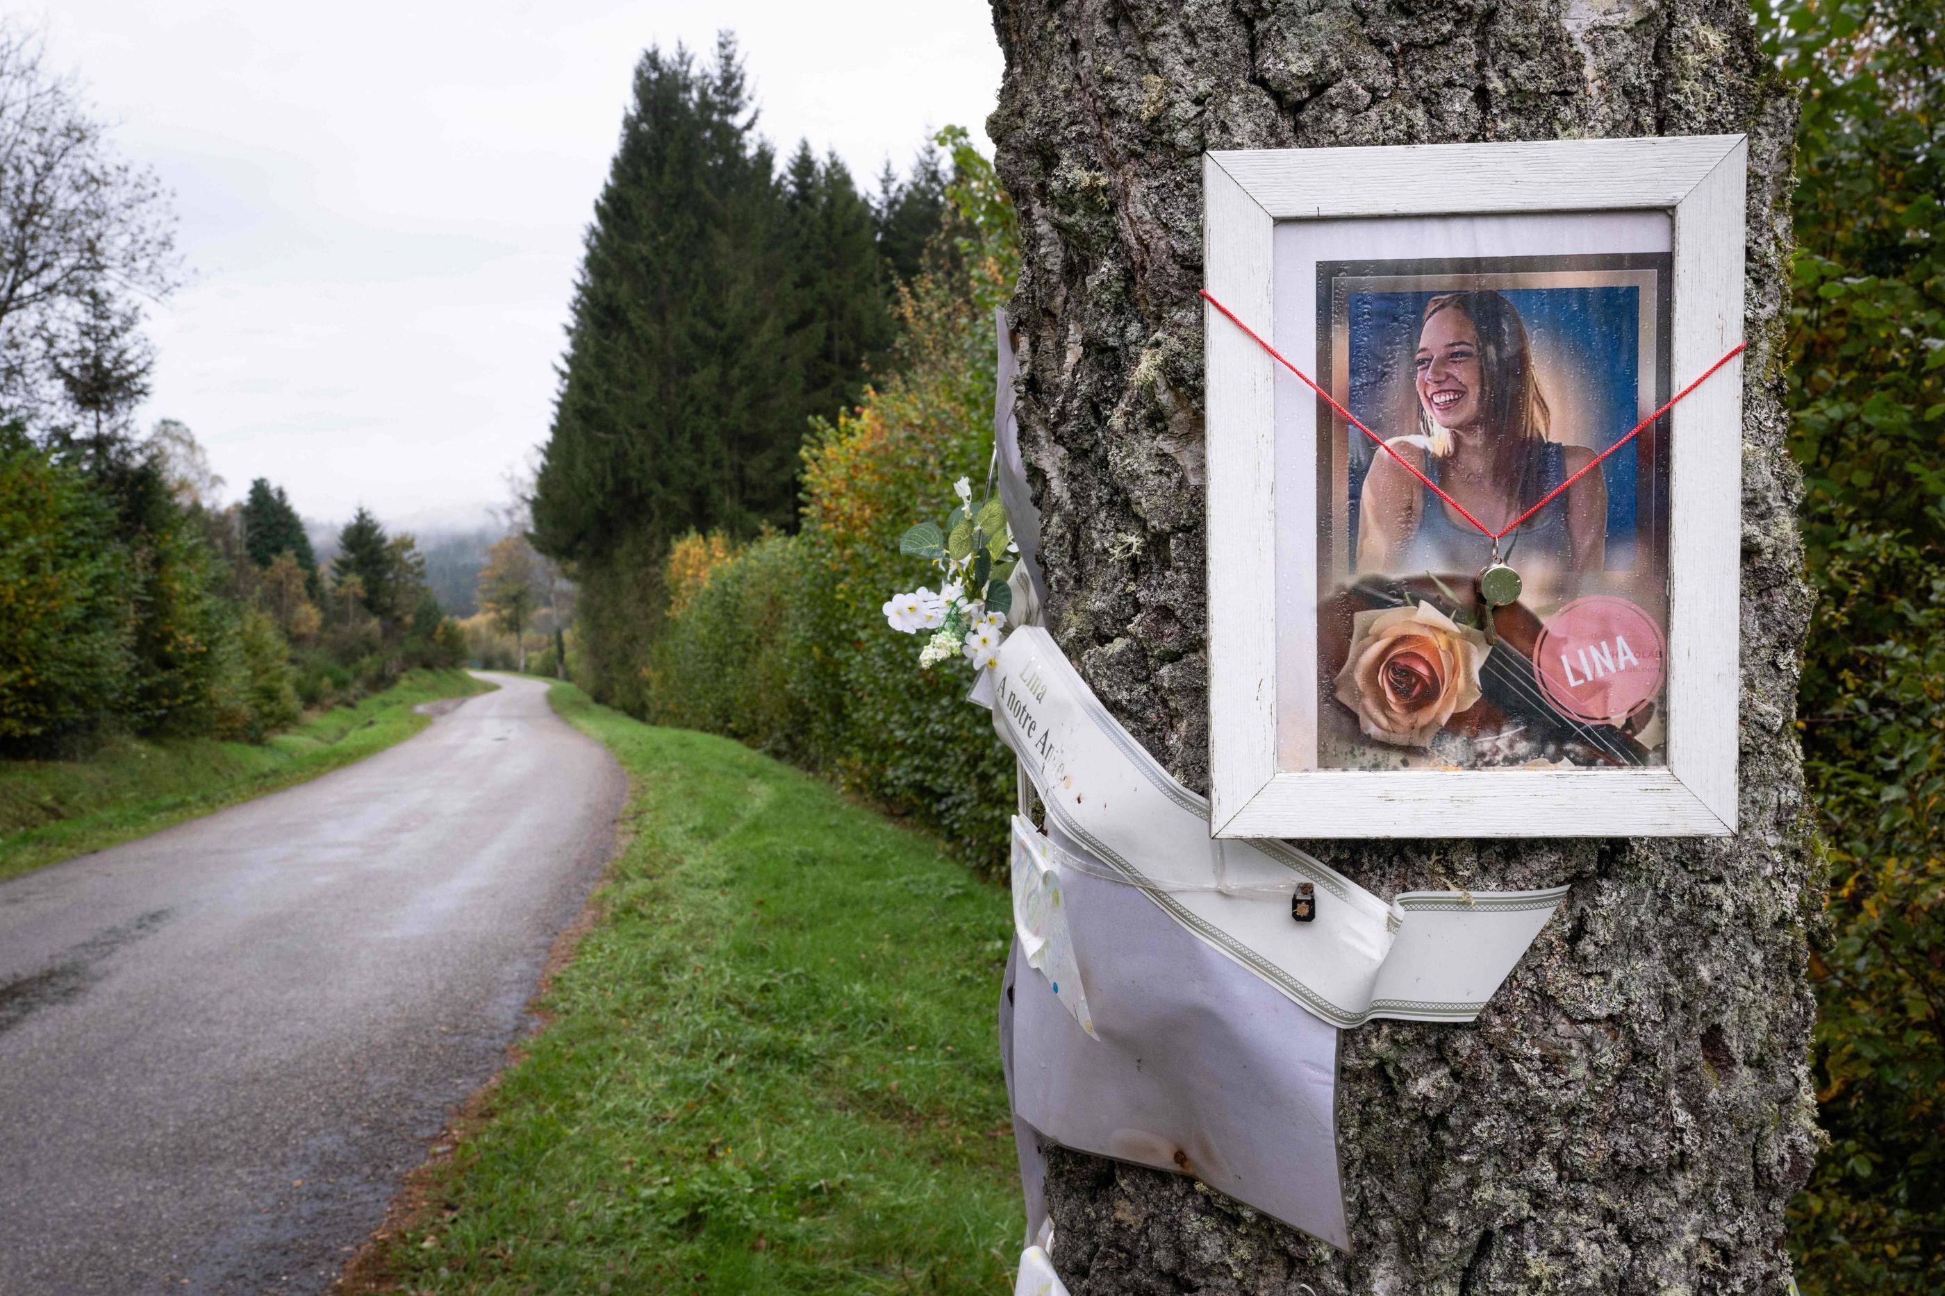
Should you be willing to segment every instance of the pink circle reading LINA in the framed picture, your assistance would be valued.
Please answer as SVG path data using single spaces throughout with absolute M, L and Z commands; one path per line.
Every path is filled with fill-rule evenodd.
M 1540 628 L 1533 674 L 1558 709 L 1589 723 L 1620 723 L 1655 699 L 1669 674 L 1661 626 L 1640 604 L 1591 595 Z

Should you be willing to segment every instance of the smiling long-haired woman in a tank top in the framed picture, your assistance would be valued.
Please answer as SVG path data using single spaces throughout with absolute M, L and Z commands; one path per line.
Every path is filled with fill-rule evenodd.
M 1414 356 L 1418 429 L 1387 445 L 1494 530 L 1525 513 L 1593 459 L 1550 437 L 1550 412 L 1519 311 L 1496 291 L 1441 293 L 1426 303 Z M 1500 542 L 1529 577 L 1601 571 L 1607 556 L 1607 484 L 1589 472 Z M 1391 455 L 1363 480 L 1358 571 L 1470 575 L 1490 544 Z M 1531 573 L 1531 575 L 1529 575 Z M 1546 581 L 1552 585 L 1554 581 Z

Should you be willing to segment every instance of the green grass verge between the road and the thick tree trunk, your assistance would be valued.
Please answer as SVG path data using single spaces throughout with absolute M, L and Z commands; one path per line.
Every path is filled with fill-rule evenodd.
M 916 834 L 568 684 L 632 841 L 552 1024 L 432 1168 L 412 1292 L 1006 1292 L 1011 911 Z

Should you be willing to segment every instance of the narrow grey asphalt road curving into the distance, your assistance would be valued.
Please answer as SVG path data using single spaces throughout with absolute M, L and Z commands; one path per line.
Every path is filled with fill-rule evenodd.
M 0 882 L 0 1292 L 321 1292 L 521 1032 L 626 779 L 490 676 L 313 783 Z

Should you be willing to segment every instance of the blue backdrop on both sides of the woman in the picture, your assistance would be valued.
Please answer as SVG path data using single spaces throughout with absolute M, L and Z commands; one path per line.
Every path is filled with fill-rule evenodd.
M 1591 443 L 1605 451 L 1640 422 L 1636 373 L 1640 365 L 1638 288 L 1505 288 L 1500 293 L 1519 311 L 1535 352 L 1550 363 L 1540 373 L 1540 392 L 1554 410 L 1552 439 Z M 1397 391 L 1395 375 L 1410 375 L 1418 354 L 1418 323 L 1426 301 L 1439 293 L 1350 293 L 1350 412 L 1381 437 L 1418 431 L 1416 424 L 1387 427 L 1398 406 L 1387 398 Z M 1408 377 L 1406 377 L 1408 381 Z M 1562 406 L 1574 383 L 1574 406 L 1593 420 L 1593 427 L 1564 427 Z M 1377 447 L 1356 427 L 1350 435 L 1350 552 L 1358 552 L 1358 501 L 1363 474 Z M 1591 433 L 1591 435 L 1589 435 Z M 1634 554 L 1636 455 L 1632 449 L 1601 464 L 1607 474 L 1609 565 Z

